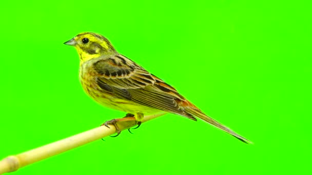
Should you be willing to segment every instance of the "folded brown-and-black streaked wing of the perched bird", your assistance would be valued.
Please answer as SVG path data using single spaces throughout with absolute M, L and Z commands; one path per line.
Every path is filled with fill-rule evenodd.
M 196 120 L 178 104 L 185 101 L 172 86 L 123 55 L 99 59 L 93 64 L 97 85 L 116 97 Z

